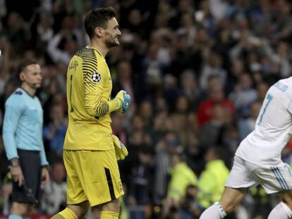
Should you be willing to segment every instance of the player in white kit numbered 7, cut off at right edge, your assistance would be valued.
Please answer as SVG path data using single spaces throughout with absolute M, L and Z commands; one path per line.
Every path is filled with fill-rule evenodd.
M 291 134 L 292 77 L 288 77 L 269 88 L 255 130 L 238 146 L 221 200 L 207 208 L 200 219 L 224 218 L 257 184 L 267 194 L 279 192 L 283 200 L 268 219 L 291 218 L 292 175 L 289 165 L 281 161 L 281 151 Z

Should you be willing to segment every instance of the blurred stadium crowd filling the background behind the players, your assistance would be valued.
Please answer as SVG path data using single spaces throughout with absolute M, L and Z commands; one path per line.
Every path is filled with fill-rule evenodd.
M 99 6 L 116 9 L 122 32 L 121 46 L 107 55 L 112 96 L 124 89 L 133 100 L 129 113 L 111 114 L 113 133 L 129 151 L 119 161 L 126 192 L 121 217 L 198 218 L 223 192 L 267 88 L 291 76 L 292 3 L 0 0 L 0 124 L 6 98 L 20 85 L 18 63 L 34 58 L 42 66 L 37 96 L 51 181 L 42 189 L 40 214 L 66 206 L 66 71 L 89 42 L 85 14 Z M 283 154 L 289 164 L 291 149 L 289 143 Z M 0 157 L 0 213 L 8 214 L 11 183 L 2 143 Z M 267 218 L 276 199 L 255 187 L 229 218 Z

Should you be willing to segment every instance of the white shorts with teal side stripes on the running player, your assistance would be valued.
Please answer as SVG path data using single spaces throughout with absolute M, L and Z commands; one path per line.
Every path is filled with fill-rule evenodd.
M 234 157 L 233 167 L 225 186 L 231 188 L 248 188 L 260 184 L 267 194 L 292 189 L 291 169 L 287 163 L 261 166 Z

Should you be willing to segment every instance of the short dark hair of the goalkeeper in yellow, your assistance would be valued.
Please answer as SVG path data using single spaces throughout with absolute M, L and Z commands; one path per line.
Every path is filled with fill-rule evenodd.
M 87 35 L 90 39 L 95 33 L 96 27 L 107 28 L 107 21 L 116 16 L 116 11 L 112 7 L 107 8 L 95 8 L 87 13 L 84 26 L 87 32 Z

